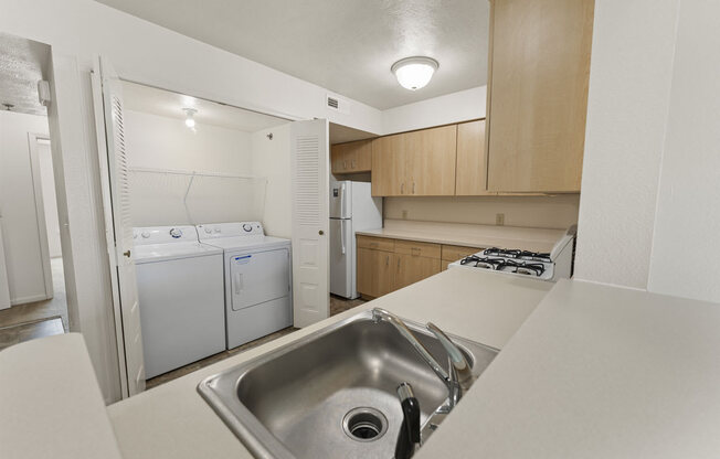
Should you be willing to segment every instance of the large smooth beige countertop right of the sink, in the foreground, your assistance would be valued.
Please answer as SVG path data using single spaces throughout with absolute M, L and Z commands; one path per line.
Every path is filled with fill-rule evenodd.
M 718 458 L 720 305 L 562 280 L 426 458 Z

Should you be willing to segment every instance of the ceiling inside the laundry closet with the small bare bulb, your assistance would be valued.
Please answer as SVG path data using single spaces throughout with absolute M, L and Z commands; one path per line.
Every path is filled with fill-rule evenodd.
M 193 118 L 199 125 L 246 132 L 289 122 L 287 119 L 129 82 L 123 82 L 123 100 L 128 110 L 177 118 L 179 122 L 186 118 L 183 108 L 194 108 L 198 111 Z

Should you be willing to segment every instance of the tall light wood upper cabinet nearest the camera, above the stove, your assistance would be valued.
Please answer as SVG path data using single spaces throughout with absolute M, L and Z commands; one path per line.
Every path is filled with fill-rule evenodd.
M 578 192 L 594 0 L 493 0 L 488 190 Z

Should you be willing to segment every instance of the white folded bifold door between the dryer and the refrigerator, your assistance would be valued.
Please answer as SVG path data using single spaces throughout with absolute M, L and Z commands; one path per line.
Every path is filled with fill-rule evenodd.
M 328 121 L 290 125 L 293 312 L 301 328 L 330 317 Z

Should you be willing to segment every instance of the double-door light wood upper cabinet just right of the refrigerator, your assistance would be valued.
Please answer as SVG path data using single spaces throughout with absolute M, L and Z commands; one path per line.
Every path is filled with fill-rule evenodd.
M 457 126 L 381 137 L 372 142 L 373 196 L 455 194 Z

